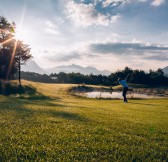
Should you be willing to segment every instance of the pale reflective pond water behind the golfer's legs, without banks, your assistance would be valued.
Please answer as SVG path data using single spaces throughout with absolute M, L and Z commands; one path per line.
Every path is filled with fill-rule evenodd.
M 114 98 L 122 99 L 122 92 L 86 92 L 86 93 L 77 93 L 79 96 L 88 97 L 88 98 Z M 160 96 L 140 94 L 134 92 L 128 92 L 127 98 L 160 98 Z

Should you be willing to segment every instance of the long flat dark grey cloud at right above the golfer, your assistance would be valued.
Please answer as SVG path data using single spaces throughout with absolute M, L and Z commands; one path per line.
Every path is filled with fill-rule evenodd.
M 148 43 L 106 43 L 91 44 L 90 50 L 95 53 L 112 54 L 125 57 L 139 56 L 143 59 L 167 60 L 168 47 Z

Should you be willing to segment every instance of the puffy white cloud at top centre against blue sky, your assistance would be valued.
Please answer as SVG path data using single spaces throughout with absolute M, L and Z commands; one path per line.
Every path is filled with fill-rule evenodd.
M 95 9 L 94 4 L 75 3 L 71 1 L 67 4 L 67 18 L 75 22 L 77 26 L 102 25 L 108 26 L 116 23 L 120 15 L 101 14 Z

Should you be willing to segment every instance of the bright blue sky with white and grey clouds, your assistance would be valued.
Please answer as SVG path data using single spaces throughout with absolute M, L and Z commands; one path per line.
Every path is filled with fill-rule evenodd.
M 168 0 L 0 0 L 43 68 L 168 66 Z

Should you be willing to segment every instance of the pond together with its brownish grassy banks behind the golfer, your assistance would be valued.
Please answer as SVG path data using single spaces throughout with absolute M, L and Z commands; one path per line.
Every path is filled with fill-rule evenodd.
M 122 98 L 122 88 L 98 86 L 75 86 L 70 93 L 88 98 Z M 133 88 L 128 91 L 128 98 L 168 98 L 168 88 Z

